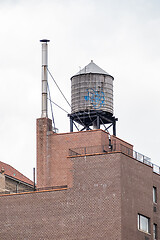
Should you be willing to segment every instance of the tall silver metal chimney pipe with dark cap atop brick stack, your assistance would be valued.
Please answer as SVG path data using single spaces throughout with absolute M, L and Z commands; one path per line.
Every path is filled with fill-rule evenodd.
M 48 104 L 47 104 L 47 67 L 48 67 L 48 42 L 50 40 L 42 39 L 42 113 L 41 118 L 48 117 Z

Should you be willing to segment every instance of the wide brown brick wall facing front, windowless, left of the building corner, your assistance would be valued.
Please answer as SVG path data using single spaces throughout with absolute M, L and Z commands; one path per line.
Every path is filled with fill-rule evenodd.
M 121 240 L 120 154 L 72 161 L 73 188 L 0 196 L 1 240 Z

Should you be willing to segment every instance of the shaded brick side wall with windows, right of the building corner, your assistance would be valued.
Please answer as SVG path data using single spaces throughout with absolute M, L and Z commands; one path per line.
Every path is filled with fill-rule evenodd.
M 152 167 L 122 155 L 121 160 L 122 189 L 122 239 L 149 240 L 153 239 L 153 223 L 160 230 L 160 206 L 153 211 L 153 186 L 157 187 L 160 196 L 160 176 L 153 173 Z M 151 234 L 138 230 L 137 215 L 150 218 Z M 160 232 L 159 232 L 160 233 Z

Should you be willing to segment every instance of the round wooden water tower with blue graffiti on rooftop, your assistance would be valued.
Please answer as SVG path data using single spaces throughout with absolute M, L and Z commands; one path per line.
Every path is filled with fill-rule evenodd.
M 113 80 L 93 61 L 71 77 L 71 132 L 76 122 L 82 125 L 81 131 L 100 129 L 101 125 L 108 130 L 112 126 L 116 135 L 118 119 L 113 116 Z

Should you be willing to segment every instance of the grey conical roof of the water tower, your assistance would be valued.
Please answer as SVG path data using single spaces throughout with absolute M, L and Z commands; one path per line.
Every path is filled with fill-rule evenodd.
M 100 68 L 99 66 L 97 66 L 93 60 L 91 60 L 91 62 L 85 66 L 83 69 L 81 69 L 78 73 L 76 73 L 74 76 L 77 75 L 81 75 L 81 74 L 87 74 L 87 73 L 95 73 L 95 74 L 104 74 L 104 75 L 109 75 L 111 76 L 109 73 L 107 73 L 106 71 L 104 71 L 102 68 Z M 72 77 L 74 77 L 72 76 Z

